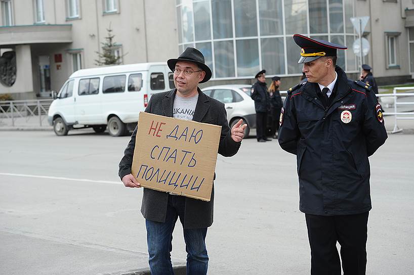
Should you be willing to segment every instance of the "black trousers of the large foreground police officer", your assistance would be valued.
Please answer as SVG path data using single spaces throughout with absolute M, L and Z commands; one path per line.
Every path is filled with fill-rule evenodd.
M 305 214 L 311 248 L 312 275 L 364 275 L 368 212 L 344 216 Z

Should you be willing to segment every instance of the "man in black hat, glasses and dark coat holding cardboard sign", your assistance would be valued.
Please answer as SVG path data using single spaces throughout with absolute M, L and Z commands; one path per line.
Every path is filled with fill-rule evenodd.
M 212 72 L 204 56 L 187 48 L 177 59 L 168 60 L 174 72 L 175 89 L 152 95 L 145 112 L 220 125 L 219 154 L 237 153 L 246 124 L 240 119 L 231 129 L 224 104 L 202 93 L 198 83 L 208 81 Z M 131 174 L 137 128 L 119 163 L 119 177 L 126 187 L 141 187 Z M 187 274 L 206 274 L 209 257 L 205 248 L 207 227 L 213 223 L 214 186 L 210 202 L 144 188 L 141 212 L 147 228 L 151 274 L 174 274 L 171 264 L 172 234 L 180 218 L 187 251 Z

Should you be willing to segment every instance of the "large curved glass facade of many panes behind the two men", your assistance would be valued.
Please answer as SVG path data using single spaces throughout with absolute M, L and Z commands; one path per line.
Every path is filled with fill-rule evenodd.
M 179 50 L 200 50 L 213 79 L 301 75 L 294 33 L 352 46 L 354 0 L 176 1 Z M 398 51 L 397 51 L 398 55 Z M 338 65 L 357 72 L 357 57 L 338 51 Z M 398 60 L 398 58 L 397 58 Z M 211 64 L 211 65 L 210 65 Z

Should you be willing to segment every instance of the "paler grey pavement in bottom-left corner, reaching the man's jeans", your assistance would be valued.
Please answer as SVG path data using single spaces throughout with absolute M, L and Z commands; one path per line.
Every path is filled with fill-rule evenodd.
M 31 270 L 30 275 L 150 274 L 148 254 L 143 252 L 52 237 L 45 239 L 44 236 L 21 232 L 0 231 L 0 243 L 3 274 L 22 274 L 24 270 Z M 17 262 L 19 266 L 16 266 Z M 173 259 L 173 266 L 176 275 L 186 274 L 185 262 L 182 260 Z

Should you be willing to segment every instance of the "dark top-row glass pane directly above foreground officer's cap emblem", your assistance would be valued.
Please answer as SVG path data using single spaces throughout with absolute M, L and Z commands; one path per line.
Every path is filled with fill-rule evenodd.
M 328 15 L 326 0 L 309 1 L 309 31 L 310 33 L 328 32 Z

